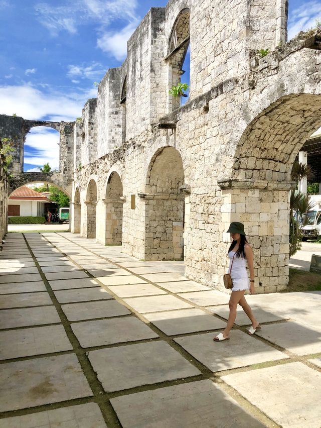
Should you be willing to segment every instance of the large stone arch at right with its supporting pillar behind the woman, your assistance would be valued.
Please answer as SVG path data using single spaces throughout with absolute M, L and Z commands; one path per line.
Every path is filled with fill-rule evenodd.
M 244 223 L 259 292 L 280 291 L 288 283 L 291 169 L 307 137 L 321 126 L 320 110 L 316 94 L 290 94 L 273 102 L 248 124 L 230 177 L 219 181 L 223 230 L 229 222 Z

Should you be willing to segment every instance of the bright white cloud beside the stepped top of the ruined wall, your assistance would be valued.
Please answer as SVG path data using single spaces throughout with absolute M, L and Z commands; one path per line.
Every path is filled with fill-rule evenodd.
M 131 22 L 120 32 L 106 32 L 97 39 L 97 46 L 103 51 L 113 55 L 118 61 L 127 55 L 127 41 L 135 31 L 137 22 Z

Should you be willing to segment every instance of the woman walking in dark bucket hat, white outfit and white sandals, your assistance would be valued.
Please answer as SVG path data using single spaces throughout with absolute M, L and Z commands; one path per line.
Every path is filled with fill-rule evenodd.
M 250 318 L 252 326 L 249 329 L 249 334 L 254 335 L 258 330 L 261 330 L 259 323 L 255 319 L 252 309 L 247 303 L 244 294 L 246 290 L 250 290 L 250 294 L 255 293 L 254 287 L 254 268 L 253 268 L 253 253 L 252 249 L 247 242 L 243 223 L 233 222 L 227 233 L 231 234 L 232 244 L 228 251 L 230 265 L 228 272 L 230 273 L 233 281 L 232 293 L 229 301 L 229 318 L 224 332 L 219 333 L 214 337 L 215 342 L 222 342 L 223 340 L 230 339 L 230 330 L 233 327 L 236 318 L 236 308 L 239 304 L 242 306 L 244 312 Z M 250 271 L 250 282 L 246 271 L 246 262 Z M 232 269 L 231 269 L 232 268 Z

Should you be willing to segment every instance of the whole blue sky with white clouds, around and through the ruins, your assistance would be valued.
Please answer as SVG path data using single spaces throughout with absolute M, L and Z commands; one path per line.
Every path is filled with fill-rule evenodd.
M 73 121 L 151 7 L 166 0 L 0 0 L 0 114 Z M 289 0 L 289 38 L 315 26 L 320 0 Z M 33 128 L 25 170 L 58 168 L 58 133 Z

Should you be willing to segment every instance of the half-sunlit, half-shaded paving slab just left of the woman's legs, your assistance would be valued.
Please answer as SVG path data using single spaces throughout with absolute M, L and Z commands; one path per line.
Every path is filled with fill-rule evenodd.
M 224 329 L 226 326 L 221 319 L 196 308 L 147 313 L 144 317 L 168 336 Z

